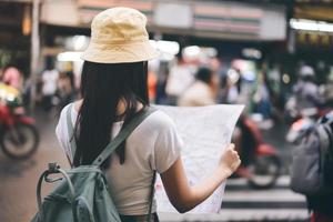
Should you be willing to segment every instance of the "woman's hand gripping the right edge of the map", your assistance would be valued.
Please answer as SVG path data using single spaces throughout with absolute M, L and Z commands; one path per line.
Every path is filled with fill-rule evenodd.
M 241 164 L 239 153 L 234 150 L 234 144 L 231 143 L 225 148 L 223 152 L 219 168 L 221 172 L 224 172 L 230 176 Z

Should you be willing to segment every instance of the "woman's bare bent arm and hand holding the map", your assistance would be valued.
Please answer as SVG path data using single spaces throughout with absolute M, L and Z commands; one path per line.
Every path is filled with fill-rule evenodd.
M 178 158 L 170 169 L 161 173 L 161 179 L 172 205 L 180 213 L 184 213 L 208 199 L 238 169 L 240 163 L 234 145 L 230 144 L 214 172 L 199 184 L 189 185 L 181 158 Z

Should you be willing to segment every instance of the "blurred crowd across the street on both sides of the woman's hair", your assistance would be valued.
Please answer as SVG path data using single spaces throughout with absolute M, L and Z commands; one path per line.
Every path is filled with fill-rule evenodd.
M 57 68 L 52 58 L 44 63 L 43 71 L 34 81 L 23 78 L 24 74 L 13 63 L 0 70 L 0 79 L 21 93 L 26 107 L 31 103 L 33 94 L 33 102 L 49 112 L 53 107 L 61 109 L 79 97 L 80 73 L 74 73 L 71 62 L 62 64 L 61 69 Z M 309 108 L 333 105 L 330 90 L 333 69 L 323 84 L 317 84 L 314 69 L 305 63 L 295 68 L 293 75 L 296 81 L 285 90 L 285 78 L 291 77 L 281 73 L 279 65 L 254 64 L 249 70 L 244 69 L 242 60 L 225 64 L 216 58 L 200 61 L 174 58 L 172 61 L 149 63 L 149 95 L 157 104 L 245 104 L 246 113 L 262 122 L 263 128 L 272 127 L 274 120 L 295 118 Z

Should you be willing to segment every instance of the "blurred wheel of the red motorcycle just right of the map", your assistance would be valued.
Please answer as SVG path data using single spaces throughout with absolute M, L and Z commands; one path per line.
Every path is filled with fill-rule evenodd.
M 253 164 L 248 167 L 251 178 L 249 184 L 255 189 L 272 188 L 280 175 L 281 162 L 275 155 L 256 157 Z

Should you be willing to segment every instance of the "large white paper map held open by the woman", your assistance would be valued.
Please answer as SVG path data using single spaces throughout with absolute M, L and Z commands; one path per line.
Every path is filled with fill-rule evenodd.
M 190 185 L 199 183 L 216 168 L 223 149 L 231 141 L 235 123 L 244 105 L 209 105 L 180 108 L 157 105 L 175 123 L 184 147 L 181 150 Z M 225 183 L 190 213 L 218 213 L 221 209 Z M 155 183 L 159 212 L 176 212 L 164 192 L 161 179 Z

